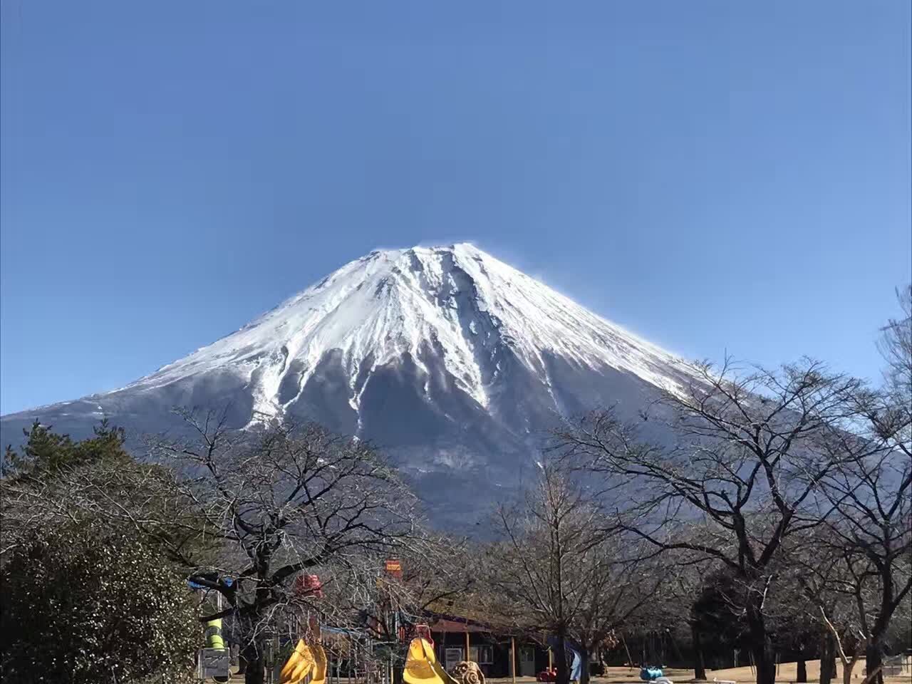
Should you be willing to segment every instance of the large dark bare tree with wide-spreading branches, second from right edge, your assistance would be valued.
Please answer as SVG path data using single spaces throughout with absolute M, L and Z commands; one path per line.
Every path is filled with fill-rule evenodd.
M 663 393 L 653 416 L 644 414 L 665 418 L 676 445 L 644 443 L 637 426 L 607 409 L 568 422 L 556 434 L 557 447 L 588 472 L 626 477 L 648 492 L 627 516 L 618 512 L 629 532 L 662 552 L 699 554 L 741 583 L 757 681 L 772 684 L 767 597 L 782 544 L 831 513 L 824 478 L 876 449 L 843 439 L 861 383 L 814 361 L 777 371 L 743 373 L 731 361 L 690 371 L 684 387 Z M 834 455 L 834 440 L 851 449 Z

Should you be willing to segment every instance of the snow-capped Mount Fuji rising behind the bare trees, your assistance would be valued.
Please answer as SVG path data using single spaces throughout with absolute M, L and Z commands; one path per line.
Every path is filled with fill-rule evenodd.
M 432 515 L 467 522 L 521 482 L 562 415 L 634 417 L 686 365 L 472 244 L 371 252 L 236 332 L 130 385 L 10 414 L 74 438 L 107 417 L 133 436 L 175 407 L 233 427 L 316 420 L 371 440 Z

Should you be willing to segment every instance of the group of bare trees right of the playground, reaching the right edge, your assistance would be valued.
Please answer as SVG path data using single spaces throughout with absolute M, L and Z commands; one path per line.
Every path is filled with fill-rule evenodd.
M 898 295 L 879 383 L 727 360 L 689 368 L 637 423 L 566 421 L 539 490 L 501 515 L 508 595 L 584 649 L 633 616 L 689 625 L 698 678 L 712 643 L 745 651 L 759 684 L 777 651 L 823 658 L 824 682 L 838 658 L 846 684 L 864 657 L 863 682 L 881 681 L 886 649 L 910 645 L 912 288 Z M 644 439 L 649 421 L 673 439 Z

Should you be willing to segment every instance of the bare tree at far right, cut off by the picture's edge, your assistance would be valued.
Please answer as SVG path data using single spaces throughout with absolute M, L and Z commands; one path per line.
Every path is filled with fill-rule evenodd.
M 884 327 L 884 382 L 857 393 L 854 430 L 827 443 L 839 465 L 824 478 L 838 512 L 827 541 L 837 547 L 840 581 L 854 597 L 868 679 L 878 682 L 887 632 L 912 590 L 912 286 L 896 294 L 903 317 Z M 864 457 L 838 459 L 857 440 L 865 440 Z

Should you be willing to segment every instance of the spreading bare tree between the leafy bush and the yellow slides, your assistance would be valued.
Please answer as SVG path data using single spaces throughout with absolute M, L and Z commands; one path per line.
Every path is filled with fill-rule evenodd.
M 169 549 L 193 582 L 223 595 L 227 607 L 202 619 L 233 616 L 245 680 L 260 684 L 266 628 L 299 615 L 308 601 L 295 577 L 389 554 L 414 532 L 415 499 L 368 444 L 316 425 L 233 433 L 212 412 L 184 418 L 195 439 L 159 440 L 152 456 L 181 468 L 173 498 L 191 504 L 199 534 L 218 540 L 223 553 L 212 563 Z M 158 522 L 133 518 L 153 535 Z

